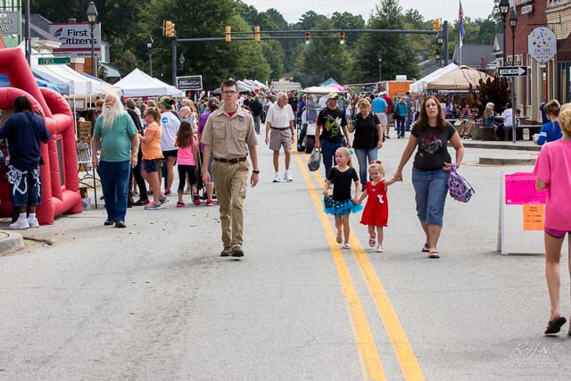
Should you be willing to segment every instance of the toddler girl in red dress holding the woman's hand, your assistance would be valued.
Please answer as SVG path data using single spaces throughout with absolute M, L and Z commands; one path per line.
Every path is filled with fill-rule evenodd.
M 383 227 L 388 226 L 389 202 L 386 198 L 386 188 L 395 183 L 395 179 L 385 180 L 385 170 L 380 161 L 373 161 L 368 166 L 371 181 L 360 195 L 362 202 L 368 197 L 367 205 L 361 216 L 360 223 L 368 227 L 368 246 L 373 248 L 377 244 L 377 253 L 383 253 Z M 377 232 L 375 230 L 377 229 Z M 378 240 L 377 240 L 378 239 Z

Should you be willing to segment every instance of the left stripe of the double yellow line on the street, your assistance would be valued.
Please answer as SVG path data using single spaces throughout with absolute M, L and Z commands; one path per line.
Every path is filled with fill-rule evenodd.
M 313 186 L 308 170 L 303 166 L 299 153 L 295 152 L 295 158 L 300 165 L 302 176 L 310 190 L 311 199 L 313 200 L 316 209 L 319 211 L 319 219 L 321 220 L 321 224 L 323 225 L 323 229 L 326 234 L 327 244 L 329 244 L 329 249 L 333 256 L 333 261 L 335 263 L 335 268 L 337 269 L 345 300 L 348 303 L 350 312 L 349 316 L 352 322 L 353 333 L 357 341 L 357 348 L 359 349 L 363 376 L 367 376 L 366 378 L 369 380 L 386 380 L 385 370 L 383 369 L 383 364 L 381 363 L 381 359 L 377 352 L 377 344 L 375 344 L 373 333 L 368 326 L 367 316 L 363 310 L 363 305 L 360 302 L 359 293 L 352 281 L 351 273 L 347 268 L 347 263 L 343 259 L 341 248 L 335 241 L 335 234 L 329 220 L 327 219 L 327 215 L 321 211 L 321 198 Z M 366 367 L 366 370 L 364 367 Z

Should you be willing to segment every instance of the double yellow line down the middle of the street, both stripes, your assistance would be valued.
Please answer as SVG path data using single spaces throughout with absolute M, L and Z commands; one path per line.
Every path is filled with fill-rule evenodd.
M 297 152 L 294 154 L 302 171 L 302 176 L 310 190 L 311 199 L 319 212 L 319 219 L 326 233 L 327 243 L 333 255 L 335 268 L 337 269 L 337 274 L 343 288 L 343 294 L 349 305 L 352 327 L 357 340 L 363 374 L 371 380 L 385 380 L 385 370 L 378 355 L 377 344 L 371 333 L 367 316 L 360 302 L 357 289 L 353 284 L 351 273 L 343 258 L 341 248 L 335 241 L 334 229 L 327 218 L 327 214 L 322 209 L 319 190 L 316 190 L 315 186 L 313 186 L 310 172 L 305 167 L 307 160 L 303 161 Z M 324 179 L 319 175 L 319 172 L 316 171 L 313 173 L 318 183 L 324 184 Z M 410 346 L 409 339 L 404 333 L 404 329 L 402 329 L 401 322 L 394 311 L 393 304 L 386 294 L 385 287 L 377 276 L 377 271 L 375 271 L 373 265 L 368 260 L 367 253 L 365 253 L 359 239 L 354 234 L 350 237 L 350 243 L 352 245 L 352 256 L 359 267 L 361 276 L 367 284 L 369 293 L 375 301 L 377 311 L 385 325 L 386 333 L 391 340 L 391 344 L 393 344 L 393 350 L 401 365 L 402 376 L 406 380 L 424 380 L 425 377 L 422 373 L 422 369 L 420 369 L 418 360 Z

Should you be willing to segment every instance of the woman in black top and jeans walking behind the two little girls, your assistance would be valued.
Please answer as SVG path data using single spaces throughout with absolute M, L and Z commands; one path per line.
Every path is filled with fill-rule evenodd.
M 383 147 L 383 127 L 377 115 L 371 112 L 371 104 L 367 99 L 359 101 L 359 110 L 354 124 L 350 124 L 349 132 L 355 131 L 353 148 L 359 162 L 361 188 L 367 185 L 367 168 L 369 162 L 377 160 L 378 149 Z

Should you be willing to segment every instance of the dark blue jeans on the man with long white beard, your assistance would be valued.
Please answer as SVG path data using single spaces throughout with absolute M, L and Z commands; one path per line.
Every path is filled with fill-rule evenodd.
M 99 162 L 107 219 L 125 221 L 131 162 Z

